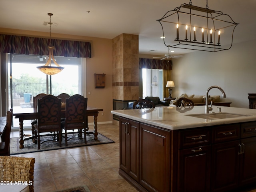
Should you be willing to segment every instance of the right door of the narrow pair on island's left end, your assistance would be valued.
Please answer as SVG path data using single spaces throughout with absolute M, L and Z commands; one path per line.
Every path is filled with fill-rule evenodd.
M 128 134 L 128 175 L 138 181 L 139 176 L 139 122 L 129 120 Z

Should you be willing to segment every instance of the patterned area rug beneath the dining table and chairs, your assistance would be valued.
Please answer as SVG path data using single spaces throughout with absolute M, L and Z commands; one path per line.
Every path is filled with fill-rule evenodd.
M 77 134 L 68 134 L 68 137 L 75 136 Z M 40 137 L 42 140 L 52 139 L 53 136 L 43 136 Z M 93 134 L 86 135 L 87 144 L 84 143 L 83 139 L 73 138 L 68 140 L 68 146 L 65 146 L 65 139 L 62 138 L 61 147 L 58 142 L 44 142 L 40 144 L 40 150 L 38 150 L 38 144 L 32 142 L 32 139 L 24 141 L 24 148 L 20 149 L 19 138 L 11 138 L 10 140 L 10 154 L 22 154 L 22 153 L 33 153 L 39 151 L 48 151 L 48 150 L 56 150 L 56 149 L 64 149 L 64 148 L 74 148 L 80 146 L 90 146 L 90 145 L 98 145 L 98 144 L 106 144 L 106 143 L 114 143 L 113 140 L 107 138 L 106 136 L 98 133 L 98 140 L 94 140 Z

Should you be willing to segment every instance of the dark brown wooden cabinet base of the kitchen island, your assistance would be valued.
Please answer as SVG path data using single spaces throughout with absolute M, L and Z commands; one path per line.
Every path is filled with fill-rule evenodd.
M 256 182 L 256 122 L 166 130 L 120 118 L 119 174 L 142 192 L 226 192 Z

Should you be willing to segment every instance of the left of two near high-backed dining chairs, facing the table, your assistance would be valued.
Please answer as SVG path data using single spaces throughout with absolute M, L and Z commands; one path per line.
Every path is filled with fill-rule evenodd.
M 38 149 L 43 142 L 56 141 L 54 138 L 40 141 L 40 133 L 43 132 L 57 132 L 57 141 L 61 147 L 60 106 L 61 99 L 53 95 L 46 95 L 37 100 L 37 123 L 34 124 L 34 139 L 38 142 Z

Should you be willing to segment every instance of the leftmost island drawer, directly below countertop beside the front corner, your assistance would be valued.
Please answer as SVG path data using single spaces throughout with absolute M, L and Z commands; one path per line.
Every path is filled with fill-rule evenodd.
M 202 146 L 211 143 L 211 129 L 189 129 L 179 132 L 179 148 Z

